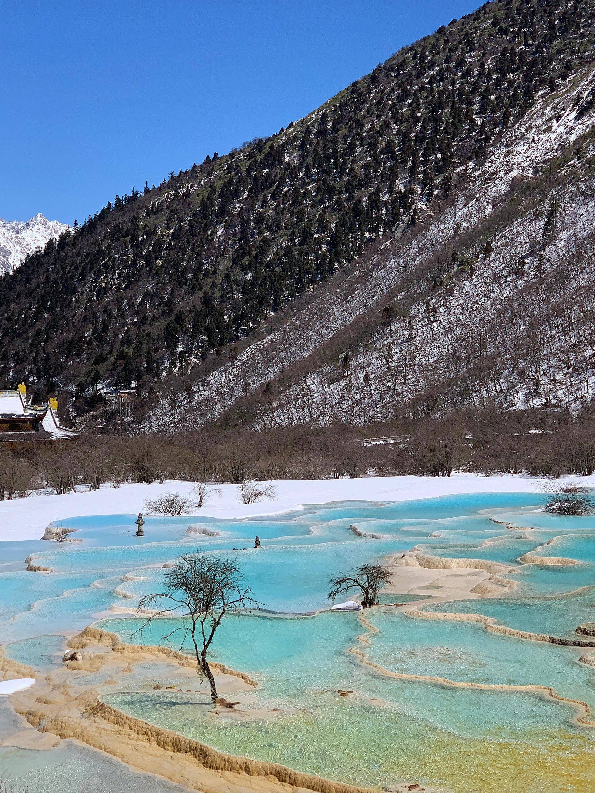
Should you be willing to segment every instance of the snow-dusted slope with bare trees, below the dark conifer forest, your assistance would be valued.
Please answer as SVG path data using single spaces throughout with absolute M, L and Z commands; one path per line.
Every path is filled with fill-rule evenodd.
M 543 90 L 470 163 L 455 199 L 169 393 L 143 428 L 196 427 L 239 405 L 256 427 L 275 427 L 584 403 L 595 379 L 595 114 L 582 108 L 593 86 L 589 67 Z

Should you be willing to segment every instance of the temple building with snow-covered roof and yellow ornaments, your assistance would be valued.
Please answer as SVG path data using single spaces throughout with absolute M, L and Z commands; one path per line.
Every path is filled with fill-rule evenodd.
M 16 391 L 0 391 L 0 444 L 75 438 L 78 432 L 63 427 L 57 414 L 55 397 L 50 397 L 46 405 L 29 404 L 25 383 L 20 383 Z

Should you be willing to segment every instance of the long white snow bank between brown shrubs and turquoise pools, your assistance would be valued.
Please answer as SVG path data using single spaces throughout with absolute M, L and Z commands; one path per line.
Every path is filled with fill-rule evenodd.
M 194 511 L 200 519 L 245 518 L 278 515 L 303 508 L 304 504 L 328 501 L 406 501 L 473 492 L 537 492 L 541 480 L 531 477 L 479 477 L 471 473 L 454 473 L 446 479 L 429 477 L 367 477 L 362 479 L 317 479 L 274 481 L 274 501 L 241 504 L 239 485 L 217 485 L 221 496 L 214 494 L 208 504 Z M 595 486 L 595 474 L 581 479 L 581 484 Z M 167 490 L 191 496 L 192 482 L 165 481 L 163 485 L 121 485 L 114 489 L 102 485 L 100 490 L 56 496 L 50 492 L 24 499 L 0 501 L 0 540 L 40 539 L 48 523 L 67 522 L 79 515 L 137 515 L 144 512 L 144 501 Z M 536 504 L 540 503 L 536 501 Z M 190 517 L 190 516 L 189 516 Z M 191 519 L 189 523 L 191 522 Z

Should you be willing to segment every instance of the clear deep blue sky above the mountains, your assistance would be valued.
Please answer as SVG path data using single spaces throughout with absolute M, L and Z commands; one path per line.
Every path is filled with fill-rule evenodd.
M 269 135 L 481 0 L 3 0 L 0 217 L 82 220 Z

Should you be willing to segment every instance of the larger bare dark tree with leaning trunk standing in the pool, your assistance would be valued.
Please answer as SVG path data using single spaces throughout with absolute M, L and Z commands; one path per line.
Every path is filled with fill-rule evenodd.
M 140 628 L 140 632 L 157 617 L 177 616 L 182 624 L 162 639 L 169 641 L 178 632 L 182 633 L 180 647 L 190 635 L 198 670 L 209 680 L 213 704 L 227 705 L 217 695 L 215 678 L 206 659 L 213 642 L 215 631 L 221 621 L 230 614 L 256 606 L 251 589 L 244 585 L 244 576 L 232 559 L 210 554 L 182 554 L 175 565 L 167 570 L 164 591 L 146 595 L 140 600 L 138 611 L 155 606 L 161 600 L 172 603 L 171 608 L 155 611 Z

